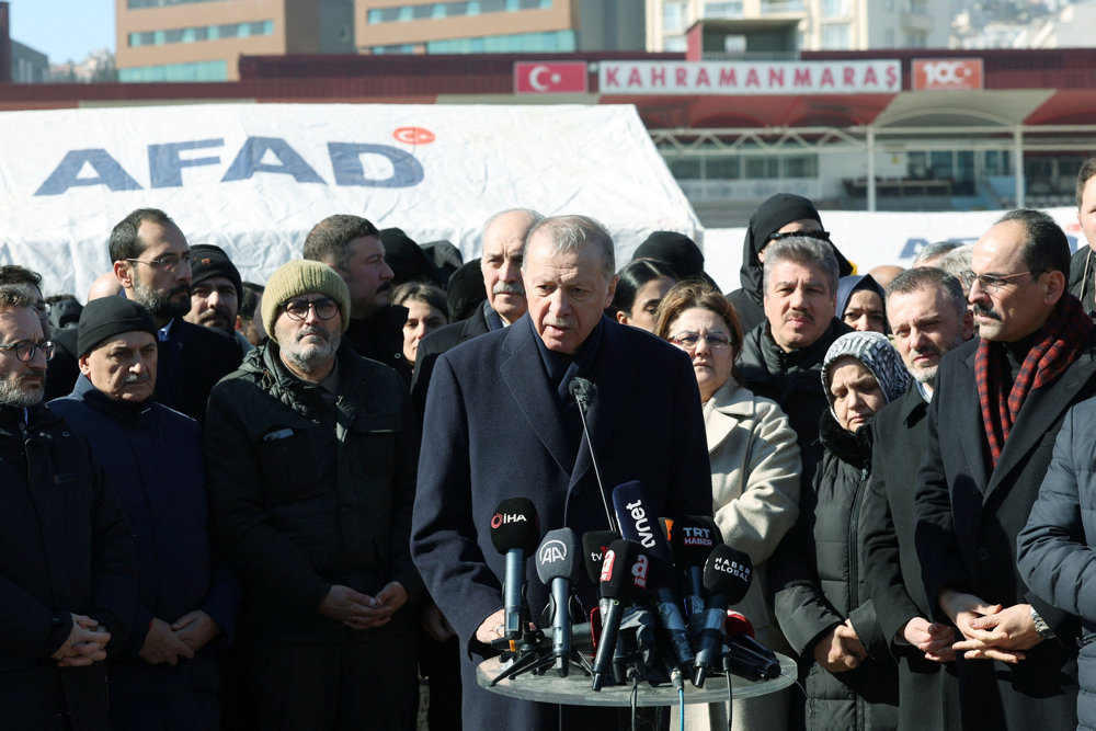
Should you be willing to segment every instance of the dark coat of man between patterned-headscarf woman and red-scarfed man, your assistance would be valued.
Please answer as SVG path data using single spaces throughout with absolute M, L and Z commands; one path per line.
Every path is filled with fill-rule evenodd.
M 871 420 L 871 479 L 860 509 L 864 583 L 891 654 L 899 666 L 899 726 L 959 729 L 959 686 L 955 663 L 926 660 L 915 647 L 893 638 L 913 617 L 932 621 L 934 603 L 925 595 L 914 542 L 914 486 L 925 454 L 928 402 L 916 381 Z

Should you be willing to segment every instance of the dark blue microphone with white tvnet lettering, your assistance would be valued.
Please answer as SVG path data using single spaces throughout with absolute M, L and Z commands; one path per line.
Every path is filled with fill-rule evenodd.
M 662 527 L 657 523 L 654 505 L 639 480 L 618 484 L 613 490 L 613 505 L 620 521 L 620 535 L 639 542 L 651 556 L 655 609 L 662 626 L 670 633 L 677 663 L 685 669 L 693 662 L 693 648 L 689 646 L 681 604 L 671 585 L 673 559 L 662 535 Z

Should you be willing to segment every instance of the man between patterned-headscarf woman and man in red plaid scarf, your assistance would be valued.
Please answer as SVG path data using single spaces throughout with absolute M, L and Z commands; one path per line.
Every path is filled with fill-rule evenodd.
M 925 453 L 928 404 L 940 358 L 973 335 L 959 279 L 934 267 L 900 273 L 887 288 L 894 347 L 913 376 L 905 393 L 871 422 L 871 480 L 860 509 L 864 583 L 886 647 L 899 667 L 899 727 L 959 728 L 955 629 L 934 621 L 914 542 L 910 477 Z

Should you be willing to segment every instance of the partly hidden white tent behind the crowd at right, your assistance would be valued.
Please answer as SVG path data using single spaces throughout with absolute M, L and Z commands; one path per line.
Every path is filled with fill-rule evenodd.
M 821 216 L 822 225 L 831 232 L 841 253 L 856 264 L 858 273 L 865 274 L 881 264 L 909 267 L 925 245 L 936 241 L 974 243 L 1004 213 L 823 210 Z M 1076 208 L 1048 208 L 1047 213 L 1065 230 L 1073 251 L 1086 245 L 1077 225 Z M 739 267 L 745 236 L 745 228 L 709 228 L 704 232 L 704 269 L 723 292 L 741 286 Z

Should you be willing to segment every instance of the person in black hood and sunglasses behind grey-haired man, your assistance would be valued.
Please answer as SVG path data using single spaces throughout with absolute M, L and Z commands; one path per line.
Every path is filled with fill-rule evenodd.
M 749 332 L 765 321 L 765 247 L 781 236 L 794 233 L 830 241 L 830 233 L 822 228 L 818 208 L 801 195 L 777 193 L 757 206 L 750 217 L 742 247 L 742 267 L 739 270 L 742 288 L 728 295 L 734 305 L 734 311 L 739 313 L 743 332 Z M 833 247 L 832 243 L 830 245 Z M 838 276 L 852 274 L 853 265 L 837 251 L 837 247 L 833 247 L 833 253 L 837 258 Z

